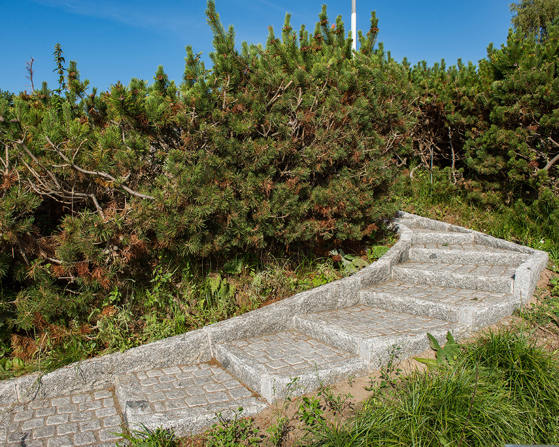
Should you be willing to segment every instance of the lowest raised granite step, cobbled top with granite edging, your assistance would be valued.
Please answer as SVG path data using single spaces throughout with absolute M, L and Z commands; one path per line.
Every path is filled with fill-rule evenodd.
M 115 394 L 130 429 L 142 425 L 150 430 L 173 428 L 178 436 L 214 424 L 216 413 L 233 417 L 241 407 L 241 416 L 252 416 L 268 405 L 211 363 L 121 375 Z

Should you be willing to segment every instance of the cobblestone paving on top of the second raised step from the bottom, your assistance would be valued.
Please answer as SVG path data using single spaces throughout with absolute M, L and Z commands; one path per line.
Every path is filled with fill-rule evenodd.
M 293 377 L 301 370 L 314 370 L 326 363 L 356 358 L 297 331 L 236 340 L 230 345 L 266 365 L 271 373 Z

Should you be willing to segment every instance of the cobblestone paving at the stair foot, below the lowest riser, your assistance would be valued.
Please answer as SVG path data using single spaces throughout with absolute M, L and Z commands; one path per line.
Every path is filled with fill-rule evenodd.
M 13 408 L 6 447 L 70 447 L 113 444 L 122 418 L 109 390 L 31 401 Z

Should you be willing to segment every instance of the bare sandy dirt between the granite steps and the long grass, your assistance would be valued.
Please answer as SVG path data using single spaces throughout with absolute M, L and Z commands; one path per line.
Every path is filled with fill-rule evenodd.
M 530 308 L 532 304 L 537 305 L 546 298 L 549 298 L 548 284 L 549 279 L 553 275 L 554 273 L 550 270 L 543 270 L 536 287 L 536 292 L 527 304 L 527 308 Z M 507 326 L 526 332 L 539 346 L 551 351 L 559 349 L 559 333 L 556 325 L 530 326 L 518 313 L 503 318 L 485 330 L 498 330 L 500 327 Z M 472 337 L 475 337 L 475 335 L 473 334 Z M 435 352 L 427 350 L 415 357 L 434 359 Z M 367 389 L 371 388 L 372 384 L 380 384 L 382 380 L 386 381 L 386 379 L 390 381 L 390 377 L 396 378 L 397 375 L 407 375 L 414 370 L 423 370 L 424 368 L 425 365 L 414 358 L 395 359 L 391 374 L 386 368 L 384 370 L 377 369 L 366 377 L 348 378 L 321 391 L 276 402 L 252 418 L 253 431 L 251 436 L 259 438 L 264 446 L 288 447 L 295 445 L 298 441 L 304 439 L 306 434 L 305 430 L 302 429 L 303 424 L 299 420 L 299 410 L 305 398 L 307 400 L 319 400 L 320 409 L 324 411 L 324 416 L 331 422 L 344 422 L 354 415 L 364 401 L 377 392 Z M 387 387 L 390 387 L 390 384 Z M 205 445 L 205 436 L 200 435 L 184 439 L 180 445 L 188 447 L 203 446 Z

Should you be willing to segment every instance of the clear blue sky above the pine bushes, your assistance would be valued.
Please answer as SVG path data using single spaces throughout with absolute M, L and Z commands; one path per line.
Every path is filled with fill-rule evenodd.
M 314 30 L 325 1 L 318 0 L 216 0 L 225 27 L 232 23 L 238 47 L 243 40 L 265 44 L 267 27 L 281 33 L 285 13 L 299 30 L 302 23 Z M 332 0 L 330 21 L 342 15 L 350 28 L 351 0 Z M 76 60 L 82 79 L 107 89 L 130 78 L 153 80 L 159 64 L 179 82 L 184 70 L 184 46 L 195 53 L 212 50 L 206 23 L 205 0 L 0 0 L 3 44 L 0 46 L 0 89 L 29 89 L 25 63 L 35 58 L 34 82 L 46 80 L 58 87 L 53 49 L 60 42 L 66 63 Z M 490 42 L 506 41 L 510 27 L 508 1 L 468 0 L 357 0 L 357 28 L 366 32 L 371 11 L 380 19 L 379 41 L 397 60 L 429 64 L 444 58 L 477 63 Z M 209 65 L 207 63 L 207 65 Z

